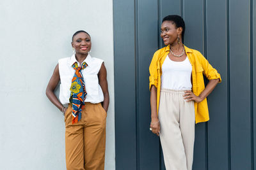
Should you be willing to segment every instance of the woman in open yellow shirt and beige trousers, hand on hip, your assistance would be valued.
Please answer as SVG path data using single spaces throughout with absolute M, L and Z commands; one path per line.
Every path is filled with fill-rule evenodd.
M 150 131 L 160 136 L 167 170 L 192 169 L 195 123 L 209 120 L 206 97 L 221 82 L 200 52 L 182 44 L 184 32 L 179 15 L 164 17 L 161 38 L 166 46 L 154 53 L 149 67 Z M 206 87 L 203 74 L 209 80 Z

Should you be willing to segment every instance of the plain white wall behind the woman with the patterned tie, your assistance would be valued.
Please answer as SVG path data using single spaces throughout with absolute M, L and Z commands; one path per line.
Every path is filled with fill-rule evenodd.
M 45 88 L 81 29 L 108 71 L 105 169 L 115 169 L 112 1 L 1 0 L 0 23 L 0 169 L 65 169 L 64 118 Z

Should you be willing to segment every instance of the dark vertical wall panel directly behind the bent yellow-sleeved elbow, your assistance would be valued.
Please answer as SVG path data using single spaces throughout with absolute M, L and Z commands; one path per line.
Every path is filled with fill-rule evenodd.
M 228 169 L 227 104 L 227 1 L 207 1 L 207 60 L 221 74 L 222 82 L 208 99 L 208 169 Z M 218 10 L 216 10 L 218 9 Z

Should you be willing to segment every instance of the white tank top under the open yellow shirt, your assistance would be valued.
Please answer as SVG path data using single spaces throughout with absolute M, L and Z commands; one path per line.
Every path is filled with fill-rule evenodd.
M 192 66 L 188 57 L 182 62 L 166 57 L 162 65 L 161 89 L 191 90 Z

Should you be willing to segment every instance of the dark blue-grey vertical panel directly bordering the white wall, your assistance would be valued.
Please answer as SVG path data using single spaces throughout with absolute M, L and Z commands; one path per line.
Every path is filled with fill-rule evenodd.
M 136 169 L 134 1 L 113 1 L 113 11 L 116 169 L 131 170 Z

